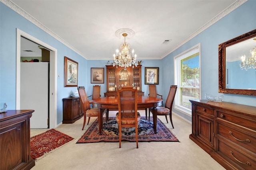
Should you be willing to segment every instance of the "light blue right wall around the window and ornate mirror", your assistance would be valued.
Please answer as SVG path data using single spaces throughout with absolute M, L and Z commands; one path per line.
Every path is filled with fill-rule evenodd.
M 256 29 L 256 1 L 249 0 L 232 11 L 230 14 L 214 23 L 208 29 L 198 34 L 196 37 L 170 53 L 162 59 L 162 69 L 170 72 L 168 75 L 170 80 L 162 83 L 162 89 L 165 91 L 164 98 L 168 95 L 170 84 L 174 83 L 173 78 L 173 58 L 190 49 L 194 45 L 201 43 L 201 88 L 202 99 L 204 95 L 211 94 L 213 96 L 221 95 L 218 93 L 218 45 L 234 37 L 238 37 L 244 33 Z M 200 18 L 198 18 L 200 19 Z M 168 70 L 168 71 L 167 71 Z M 167 76 L 163 73 L 163 76 Z M 223 94 L 225 102 L 256 106 L 256 96 Z M 191 121 L 191 117 L 173 109 L 182 117 Z

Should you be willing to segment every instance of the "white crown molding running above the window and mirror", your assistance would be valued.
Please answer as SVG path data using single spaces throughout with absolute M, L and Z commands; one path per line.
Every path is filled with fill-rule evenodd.
M 204 24 L 202 27 L 200 27 L 198 30 L 196 30 L 194 33 L 192 33 L 190 36 L 188 36 L 186 39 L 184 39 L 183 41 L 181 41 L 180 43 L 178 43 L 175 47 L 173 47 L 170 51 L 168 51 L 167 53 L 165 53 L 164 55 L 162 55 L 160 57 L 160 59 L 163 59 L 164 57 L 166 57 L 167 55 L 169 55 L 170 53 L 172 53 L 174 50 L 178 49 L 180 46 L 184 45 L 186 42 L 188 42 L 190 39 L 196 37 L 196 35 L 200 34 L 202 31 L 206 30 L 208 27 L 210 27 L 211 25 L 213 25 L 214 23 L 216 23 L 217 21 L 219 21 L 220 19 L 222 19 L 224 16 L 228 15 L 230 12 L 234 11 L 236 8 L 238 8 L 239 6 L 241 6 L 242 4 L 244 4 L 244 2 L 246 2 L 247 0 L 237 0 L 236 2 L 234 2 L 233 4 L 231 4 L 228 8 L 226 8 L 225 10 L 223 10 L 222 12 L 220 12 L 220 14 L 218 14 L 217 16 L 215 16 L 214 18 L 212 18 L 212 20 L 208 21 L 206 24 Z

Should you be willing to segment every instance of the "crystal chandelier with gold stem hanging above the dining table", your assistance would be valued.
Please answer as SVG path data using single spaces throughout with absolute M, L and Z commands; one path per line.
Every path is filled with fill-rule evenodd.
M 132 66 L 138 66 L 138 63 L 136 61 L 137 55 L 134 54 L 134 50 L 132 50 L 132 55 L 129 52 L 129 44 L 126 43 L 125 37 L 128 35 L 127 33 L 122 34 L 124 36 L 124 43 L 121 44 L 121 51 L 116 49 L 116 54 L 114 54 L 114 61 L 113 66 L 121 66 L 124 67 L 124 70 L 126 70 L 126 67 Z

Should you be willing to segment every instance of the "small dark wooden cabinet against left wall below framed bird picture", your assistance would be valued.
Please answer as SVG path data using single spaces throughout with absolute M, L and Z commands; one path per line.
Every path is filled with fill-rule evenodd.
M 62 123 L 74 123 L 84 115 L 84 109 L 80 97 L 63 98 Z

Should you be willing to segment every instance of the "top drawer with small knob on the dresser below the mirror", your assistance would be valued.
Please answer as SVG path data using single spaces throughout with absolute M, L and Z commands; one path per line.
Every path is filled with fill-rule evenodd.
M 217 111 L 217 118 L 232 122 L 234 124 L 246 127 L 256 131 L 256 120 L 250 117 L 242 117 L 242 115 L 236 115 L 229 112 Z

